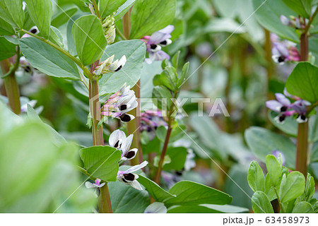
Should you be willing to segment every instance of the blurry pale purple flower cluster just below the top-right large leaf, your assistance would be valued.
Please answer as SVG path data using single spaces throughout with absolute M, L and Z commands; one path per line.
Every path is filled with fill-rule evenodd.
M 300 61 L 300 53 L 295 47 L 296 44 L 288 40 L 279 40 L 278 36 L 271 34 L 271 49 L 273 61 L 278 64 L 284 64 L 286 61 Z

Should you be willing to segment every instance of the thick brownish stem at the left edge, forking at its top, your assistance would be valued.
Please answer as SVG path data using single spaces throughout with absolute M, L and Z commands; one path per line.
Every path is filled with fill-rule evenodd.
M 18 83 L 16 82 L 16 69 L 18 68 L 19 59 L 20 59 L 19 54 L 17 54 L 16 64 L 14 68 L 11 70 L 10 74 L 4 78 L 4 87 L 6 88 L 8 103 L 12 112 L 16 114 L 20 114 L 21 112 L 20 91 L 19 91 Z M 8 59 L 1 61 L 1 68 L 4 74 L 10 71 L 10 66 L 11 64 Z

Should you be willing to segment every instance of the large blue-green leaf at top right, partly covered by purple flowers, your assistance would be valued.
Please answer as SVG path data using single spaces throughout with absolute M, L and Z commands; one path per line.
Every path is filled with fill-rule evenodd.
M 300 42 L 295 29 L 281 23 L 281 15 L 298 17 L 283 1 L 253 0 L 253 6 L 257 20 L 264 28 L 290 41 Z

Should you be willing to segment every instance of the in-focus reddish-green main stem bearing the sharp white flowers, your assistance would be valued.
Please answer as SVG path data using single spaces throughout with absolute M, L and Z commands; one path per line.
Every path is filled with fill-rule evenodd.
M 90 72 L 93 72 L 98 64 L 99 61 L 95 61 L 95 63 L 90 66 Z M 93 75 L 91 76 L 93 77 Z M 102 125 L 98 128 L 98 122 L 100 121 L 100 98 L 98 93 L 98 80 L 90 80 L 89 95 L 90 115 L 93 121 L 93 145 L 104 145 L 104 134 L 102 133 Z M 100 210 L 100 213 L 112 213 L 110 191 L 108 190 L 107 183 L 100 188 L 98 208 Z

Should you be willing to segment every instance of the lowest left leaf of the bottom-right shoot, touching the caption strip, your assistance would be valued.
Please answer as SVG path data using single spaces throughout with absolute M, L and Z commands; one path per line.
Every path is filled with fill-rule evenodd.
M 252 196 L 252 208 L 254 213 L 273 213 L 269 197 L 263 191 L 257 191 Z

